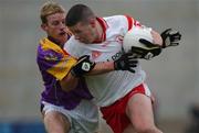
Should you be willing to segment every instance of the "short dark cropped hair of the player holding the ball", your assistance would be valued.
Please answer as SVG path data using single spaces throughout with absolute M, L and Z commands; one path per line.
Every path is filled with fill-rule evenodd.
M 90 18 L 95 18 L 93 11 L 84 4 L 73 5 L 65 18 L 66 26 L 74 26 L 78 22 L 87 22 Z

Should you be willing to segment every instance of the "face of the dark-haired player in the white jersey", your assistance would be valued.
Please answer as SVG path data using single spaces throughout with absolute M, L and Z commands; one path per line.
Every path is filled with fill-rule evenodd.
M 78 22 L 76 25 L 70 26 L 69 29 L 75 36 L 75 40 L 78 40 L 80 42 L 85 44 L 91 44 L 98 37 L 96 27 L 93 26 L 92 23 Z

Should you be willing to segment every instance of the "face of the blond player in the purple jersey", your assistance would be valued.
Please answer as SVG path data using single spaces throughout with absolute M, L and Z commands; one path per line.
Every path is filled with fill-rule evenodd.
M 55 13 L 46 18 L 46 23 L 42 25 L 42 29 L 49 36 L 57 40 L 61 43 L 65 43 L 67 40 L 67 29 L 65 26 L 65 13 Z

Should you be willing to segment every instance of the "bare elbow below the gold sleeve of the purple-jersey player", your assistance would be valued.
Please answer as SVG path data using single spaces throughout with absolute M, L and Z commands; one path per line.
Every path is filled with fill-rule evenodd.
M 78 84 L 78 78 L 74 77 L 69 73 L 61 81 L 60 85 L 62 87 L 62 90 L 70 91 L 74 89 Z

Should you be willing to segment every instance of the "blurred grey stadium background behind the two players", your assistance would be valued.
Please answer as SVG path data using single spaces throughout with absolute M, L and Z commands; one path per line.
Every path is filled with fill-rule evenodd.
M 45 35 L 39 18 L 45 1 L 0 0 L 0 133 L 44 133 L 39 102 L 43 82 L 35 52 Z M 55 1 L 66 10 L 81 2 L 101 16 L 130 14 L 158 32 L 174 27 L 182 33 L 180 46 L 142 64 L 157 98 L 158 125 L 165 133 L 185 132 L 190 106 L 199 104 L 199 0 Z

